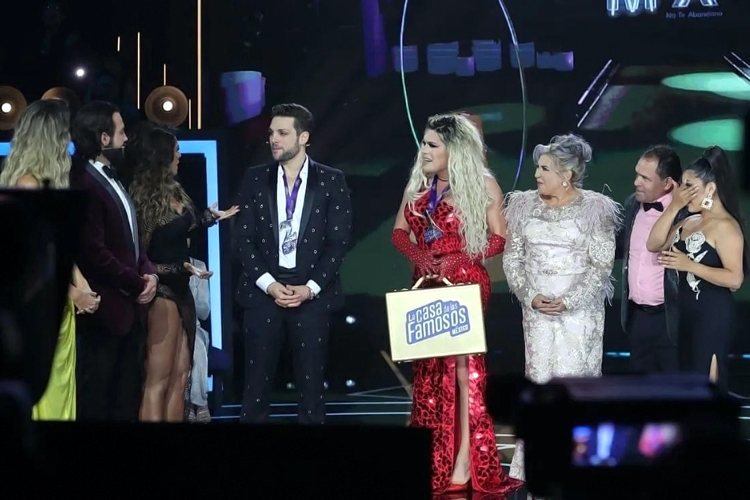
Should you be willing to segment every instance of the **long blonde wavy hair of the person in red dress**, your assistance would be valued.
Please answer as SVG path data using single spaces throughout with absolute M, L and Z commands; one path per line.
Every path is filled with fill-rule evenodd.
M 484 161 L 484 141 L 472 121 L 463 114 L 434 115 L 427 129 L 434 130 L 448 153 L 449 196 L 460 220 L 463 250 L 469 256 L 481 256 L 487 250 L 487 207 L 492 196 L 484 184 L 484 176 L 492 175 Z M 432 178 L 425 175 L 422 154 L 418 153 L 407 184 L 407 199 L 414 202 L 430 188 Z

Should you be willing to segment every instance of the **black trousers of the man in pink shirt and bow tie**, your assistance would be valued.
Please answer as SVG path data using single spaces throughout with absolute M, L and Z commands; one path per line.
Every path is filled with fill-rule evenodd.
M 631 303 L 628 325 L 631 369 L 636 373 L 677 373 L 679 351 L 667 334 L 664 307 L 643 307 Z

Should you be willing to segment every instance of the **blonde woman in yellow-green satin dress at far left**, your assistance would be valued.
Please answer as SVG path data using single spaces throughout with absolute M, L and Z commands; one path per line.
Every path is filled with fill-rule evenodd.
M 70 119 L 68 105 L 63 100 L 31 103 L 13 133 L 10 153 L 0 173 L 0 185 L 38 189 L 49 182 L 52 189 L 66 189 L 71 172 Z M 46 391 L 32 410 L 34 420 L 76 419 L 76 314 L 93 313 L 99 300 L 78 268 L 74 268 L 52 373 Z

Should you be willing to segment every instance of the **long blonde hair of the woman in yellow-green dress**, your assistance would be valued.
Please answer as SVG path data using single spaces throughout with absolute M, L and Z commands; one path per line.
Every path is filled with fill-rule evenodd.
M 5 157 L 0 185 L 14 187 L 24 175 L 49 180 L 49 187 L 65 189 L 70 184 L 71 112 L 64 100 L 31 103 L 21 114 L 10 153 Z

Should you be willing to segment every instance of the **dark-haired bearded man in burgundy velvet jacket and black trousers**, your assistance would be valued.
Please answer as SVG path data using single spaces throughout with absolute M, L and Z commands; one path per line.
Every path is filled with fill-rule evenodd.
M 101 304 L 77 316 L 77 418 L 136 421 L 146 304 L 157 276 L 139 240 L 136 211 L 115 167 L 127 136 L 117 107 L 83 106 L 74 118 L 71 186 L 89 193 L 78 267 Z

